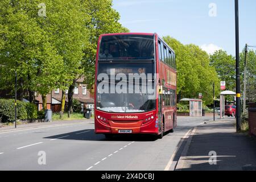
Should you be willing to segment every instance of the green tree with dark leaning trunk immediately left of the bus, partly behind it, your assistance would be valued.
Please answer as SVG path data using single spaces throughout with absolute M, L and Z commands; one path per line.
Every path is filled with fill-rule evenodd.
M 92 88 L 95 77 L 95 60 L 97 51 L 97 42 L 101 34 L 114 32 L 128 32 L 129 30 L 122 27 L 118 22 L 119 13 L 113 9 L 112 0 L 83 0 L 81 1 L 82 9 L 89 18 L 84 23 L 88 29 L 88 44 L 84 47 L 84 56 L 81 59 L 81 69 L 83 72 L 73 79 L 68 89 L 68 110 L 72 111 L 72 96 L 76 80 L 81 76 L 85 77 L 85 83 L 88 88 Z M 90 89 L 91 90 L 91 89 Z

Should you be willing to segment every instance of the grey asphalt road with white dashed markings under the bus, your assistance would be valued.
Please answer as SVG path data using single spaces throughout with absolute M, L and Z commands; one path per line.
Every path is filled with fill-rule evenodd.
M 184 136 L 212 117 L 178 117 L 163 139 L 94 134 L 93 122 L 0 133 L 0 170 L 172 170 Z M 44 158 L 45 156 L 45 158 Z M 44 164 L 46 162 L 46 164 Z

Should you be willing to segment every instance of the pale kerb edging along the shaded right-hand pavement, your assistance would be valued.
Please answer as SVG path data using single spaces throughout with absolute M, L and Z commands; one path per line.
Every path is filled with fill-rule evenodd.
M 197 129 L 197 127 L 194 127 L 193 131 L 189 135 L 187 143 L 185 144 L 185 147 L 184 147 L 183 151 L 181 152 L 180 158 L 177 162 L 177 166 L 175 168 L 175 171 L 181 171 L 181 169 L 183 169 L 185 159 L 187 158 L 188 149 L 189 149 L 189 146 L 191 144 L 193 135 L 196 133 L 196 129 Z

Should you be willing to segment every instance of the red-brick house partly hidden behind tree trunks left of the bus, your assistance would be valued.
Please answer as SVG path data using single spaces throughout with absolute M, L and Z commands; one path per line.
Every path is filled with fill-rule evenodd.
M 74 89 L 73 98 L 79 100 L 81 102 L 82 111 L 85 108 L 94 110 L 94 93 L 92 88 L 87 88 L 86 84 L 83 84 L 84 78 L 79 78 L 76 81 L 76 86 Z M 61 89 L 52 90 L 50 94 L 47 94 L 47 109 L 51 109 L 54 113 L 59 112 L 61 110 Z M 68 105 L 68 90 L 65 91 L 66 100 L 65 100 L 65 108 Z M 38 101 L 38 109 L 43 109 L 42 96 L 38 95 L 35 97 L 35 100 Z

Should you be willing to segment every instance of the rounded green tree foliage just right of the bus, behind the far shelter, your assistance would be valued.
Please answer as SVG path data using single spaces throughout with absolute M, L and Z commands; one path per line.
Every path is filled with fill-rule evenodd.
M 177 93 L 181 98 L 197 98 L 202 93 L 205 104 L 211 104 L 212 85 L 213 82 L 217 85 L 219 79 L 214 67 L 210 65 L 207 52 L 194 44 L 183 45 L 170 36 L 163 39 L 176 53 Z

